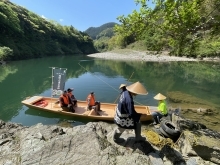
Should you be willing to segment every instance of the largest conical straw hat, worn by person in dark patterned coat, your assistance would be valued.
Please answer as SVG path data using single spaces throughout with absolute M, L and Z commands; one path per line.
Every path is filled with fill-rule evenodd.
M 138 81 L 134 84 L 131 84 L 126 87 L 129 92 L 138 94 L 138 95 L 147 95 L 147 90 L 144 88 L 144 86 Z

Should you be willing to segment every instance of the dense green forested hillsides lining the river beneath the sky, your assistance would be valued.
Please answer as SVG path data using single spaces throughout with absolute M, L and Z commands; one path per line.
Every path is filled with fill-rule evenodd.
M 0 62 L 114 48 L 220 56 L 219 0 L 134 0 L 140 10 L 81 32 L 11 3 L 0 2 Z M 141 45 L 141 47 L 140 47 Z

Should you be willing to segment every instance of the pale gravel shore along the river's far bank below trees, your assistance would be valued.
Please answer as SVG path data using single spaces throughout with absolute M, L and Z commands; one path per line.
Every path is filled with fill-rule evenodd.
M 123 61 L 153 61 L 153 62 L 169 62 L 169 61 L 199 61 L 194 58 L 174 57 L 166 55 L 166 53 L 153 55 L 147 54 L 145 51 L 135 50 L 118 50 L 111 52 L 95 53 L 88 55 L 89 57 L 114 59 Z

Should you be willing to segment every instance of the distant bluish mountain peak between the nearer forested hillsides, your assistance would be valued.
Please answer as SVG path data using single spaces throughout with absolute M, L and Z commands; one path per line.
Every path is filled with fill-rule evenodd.
M 112 37 L 114 35 L 113 27 L 115 25 L 117 25 L 117 23 L 109 22 L 99 27 L 90 27 L 84 32 L 87 33 L 93 40 L 98 39 L 103 35 Z

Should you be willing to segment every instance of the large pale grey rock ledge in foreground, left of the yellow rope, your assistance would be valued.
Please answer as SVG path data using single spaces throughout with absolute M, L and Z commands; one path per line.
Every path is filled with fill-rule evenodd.
M 133 130 L 126 130 L 121 136 L 126 141 L 116 144 L 112 138 L 115 127 L 115 124 L 105 122 L 91 122 L 73 128 L 40 123 L 23 127 L 0 120 L 0 164 L 184 165 L 205 162 L 197 159 L 201 155 L 194 146 L 195 158 L 189 159 L 187 155 L 185 159 L 184 154 L 170 146 L 159 149 L 147 140 L 135 142 Z M 212 152 L 212 155 L 210 161 L 217 162 L 214 159 L 218 158 L 218 153 Z

